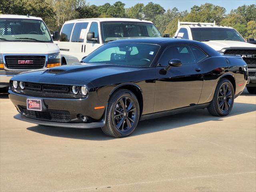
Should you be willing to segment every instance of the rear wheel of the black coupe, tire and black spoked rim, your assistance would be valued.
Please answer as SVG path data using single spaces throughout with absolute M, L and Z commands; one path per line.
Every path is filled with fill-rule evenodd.
M 234 98 L 232 83 L 223 78 L 218 83 L 212 102 L 207 107 L 207 110 L 213 116 L 227 116 L 233 108 Z

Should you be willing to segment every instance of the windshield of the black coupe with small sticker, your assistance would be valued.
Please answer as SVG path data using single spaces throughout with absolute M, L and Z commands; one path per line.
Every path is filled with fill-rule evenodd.
M 148 67 L 159 48 L 160 46 L 155 44 L 109 43 L 96 49 L 82 61 L 86 63 Z

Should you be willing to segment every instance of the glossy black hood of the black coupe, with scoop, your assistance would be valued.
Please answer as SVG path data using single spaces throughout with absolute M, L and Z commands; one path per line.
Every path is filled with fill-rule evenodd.
M 106 84 L 106 81 L 108 83 L 118 83 L 118 81 L 124 80 L 125 82 L 128 73 L 140 72 L 143 69 L 145 67 L 113 64 L 72 64 L 24 72 L 14 76 L 12 80 L 80 86 L 89 82 L 94 84 L 94 81 L 96 81 L 97 86 L 100 86 Z

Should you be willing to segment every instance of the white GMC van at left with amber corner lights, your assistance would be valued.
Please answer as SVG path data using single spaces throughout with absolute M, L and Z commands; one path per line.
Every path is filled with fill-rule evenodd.
M 60 49 L 42 18 L 0 14 L 0 88 L 16 74 L 54 66 L 60 66 Z

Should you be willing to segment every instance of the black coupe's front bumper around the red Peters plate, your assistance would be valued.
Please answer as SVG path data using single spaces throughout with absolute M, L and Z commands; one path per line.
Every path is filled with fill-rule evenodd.
M 96 92 L 90 92 L 87 98 L 46 98 L 43 95 L 40 97 L 26 96 L 9 89 L 9 98 L 20 113 L 14 116 L 14 118 L 38 125 L 72 128 L 96 128 L 105 125 L 106 107 L 94 109 L 94 106 L 106 106 L 107 102 L 100 102 L 98 97 L 95 96 L 96 94 Z M 43 110 L 41 114 L 32 114 L 31 116 L 26 110 L 24 111 L 22 109 L 24 107 L 26 108 L 27 98 L 40 99 L 42 101 Z M 53 111 L 55 112 L 55 115 L 53 114 L 54 116 L 51 115 Z M 68 112 L 69 118 L 64 120 L 56 119 L 56 114 L 61 111 Z M 79 114 L 87 116 L 89 119 L 88 122 L 82 122 L 82 120 L 78 118 Z M 47 118 L 45 118 L 45 116 L 47 116 Z

